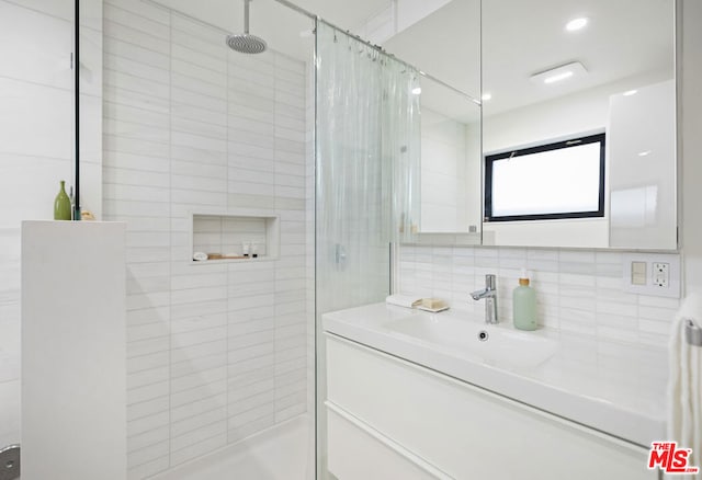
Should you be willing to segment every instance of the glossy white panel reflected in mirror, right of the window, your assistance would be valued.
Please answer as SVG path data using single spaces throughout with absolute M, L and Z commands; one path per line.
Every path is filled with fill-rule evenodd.
M 676 90 L 669 80 L 612 95 L 608 126 L 610 245 L 678 247 Z

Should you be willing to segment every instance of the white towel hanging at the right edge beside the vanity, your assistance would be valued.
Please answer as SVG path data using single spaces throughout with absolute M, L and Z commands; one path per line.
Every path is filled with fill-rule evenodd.
M 678 311 L 670 335 L 668 438 L 692 448 L 689 465 L 702 467 L 702 347 L 686 341 L 686 321 L 702 323 L 702 297 L 689 295 Z M 681 476 L 681 479 L 699 478 Z

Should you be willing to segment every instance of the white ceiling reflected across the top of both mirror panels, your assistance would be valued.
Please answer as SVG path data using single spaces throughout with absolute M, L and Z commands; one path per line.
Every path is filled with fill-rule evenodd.
M 384 47 L 435 77 L 479 96 L 484 115 L 563 98 L 622 79 L 673 77 L 673 0 L 453 0 L 400 32 Z M 566 32 L 567 21 L 589 24 Z M 483 30 L 480 52 L 471 47 Z M 544 85 L 536 72 L 580 61 L 582 78 Z M 656 72 L 656 75 L 650 75 Z

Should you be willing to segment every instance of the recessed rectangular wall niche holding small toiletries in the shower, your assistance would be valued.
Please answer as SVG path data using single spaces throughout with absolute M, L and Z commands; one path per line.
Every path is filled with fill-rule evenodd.
M 192 214 L 191 256 L 193 264 L 261 262 L 279 258 L 280 219 L 271 215 Z M 249 243 L 249 258 L 244 256 Z M 257 258 L 252 256 L 253 245 Z M 207 260 L 195 261 L 193 254 L 204 252 Z M 222 255 L 220 258 L 218 255 Z

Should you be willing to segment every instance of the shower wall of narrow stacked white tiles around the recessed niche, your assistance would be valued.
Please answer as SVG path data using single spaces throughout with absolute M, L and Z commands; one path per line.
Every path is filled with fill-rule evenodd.
M 146 1 L 104 14 L 104 212 L 127 222 L 138 479 L 307 409 L 307 80 Z M 280 260 L 189 262 L 190 213 L 233 210 L 280 216 Z

